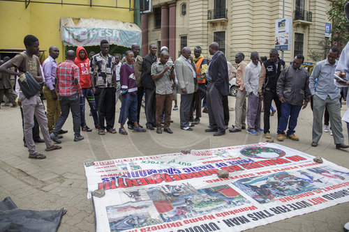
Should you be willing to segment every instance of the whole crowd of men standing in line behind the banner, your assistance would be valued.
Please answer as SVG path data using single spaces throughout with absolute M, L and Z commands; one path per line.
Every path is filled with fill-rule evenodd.
M 89 103 L 94 127 L 98 134 L 110 132 L 128 134 L 128 130 L 146 132 L 140 125 L 142 97 L 145 95 L 145 127 L 161 134 L 170 129 L 172 110 L 177 110 L 177 93 L 181 95 L 179 114 L 182 130 L 192 131 L 200 123 L 202 112 L 209 116 L 209 128 L 205 132 L 214 132 L 222 136 L 229 123 L 229 81 L 236 75 L 238 88 L 235 103 L 235 125 L 229 132 L 239 133 L 246 129 L 249 134 L 263 132 L 265 138 L 271 139 L 269 118 L 275 113 L 276 106 L 278 126 L 277 140 L 288 137 L 294 141 L 297 118 L 301 109 L 312 102 L 313 141 L 311 146 L 318 146 L 322 135 L 322 116 L 325 108 L 329 114 L 331 130 L 336 148 L 348 148 L 344 144 L 341 126 L 341 94 L 339 86 L 347 86 L 345 65 L 337 68 L 340 52 L 336 47 L 329 49 L 327 59 L 318 62 L 309 77 L 309 72 L 302 67 L 304 56 L 297 54 L 291 65 L 279 58 L 279 52 L 271 49 L 269 59 L 260 58 L 258 52 L 251 52 L 251 62 L 244 61 L 245 56 L 239 52 L 235 56 L 237 69 L 225 59 L 219 51 L 217 42 L 209 45 L 211 59 L 202 56 L 202 48 L 184 47 L 181 55 L 174 61 L 168 47 L 161 47 L 157 57 L 155 44 L 149 45 L 147 56 L 139 55 L 140 45 L 133 44 L 121 60 L 117 54 L 109 54 L 107 40 L 101 41 L 101 52 L 88 55 L 84 47 L 66 52 L 66 60 L 57 65 L 59 49 L 52 46 L 47 59 L 41 67 L 38 59 L 38 38 L 28 35 L 24 38 L 26 50 L 13 59 L 0 61 L 0 102 L 3 94 L 13 107 L 20 105 L 24 131 L 24 146 L 29 150 L 29 158 L 44 159 L 43 153 L 36 150 L 36 142 L 45 142 L 46 151 L 60 149 L 61 134 L 68 114 L 73 116 L 74 141 L 84 137 L 80 131 L 91 132 L 85 118 L 85 102 Z M 348 47 L 348 45 L 347 45 Z M 345 52 L 344 50 L 343 52 Z M 15 70 L 16 68 L 17 70 Z M 334 79 L 336 75 L 343 79 Z M 47 101 L 46 112 L 40 92 L 27 97 L 18 87 L 18 82 L 31 75 L 36 82 L 43 84 L 42 92 Z M 17 76 L 17 95 L 11 91 L 10 77 Z M 17 102 L 15 99 L 17 98 Z M 121 98 L 119 130 L 114 128 L 115 105 Z M 248 99 L 248 101 L 246 101 Z M 172 109 L 172 101 L 175 105 Z M 263 128 L 261 112 L 264 105 Z M 272 113 L 271 113 L 272 111 Z M 194 118 L 195 114 L 195 118 Z M 247 125 L 246 125 L 247 121 Z M 163 125 L 162 125 L 163 124 Z M 43 139 L 38 134 L 40 127 Z M 163 127 L 163 129 L 162 129 Z M 286 132 L 285 130 L 288 129 Z M 349 132 L 349 130 L 348 130 Z

